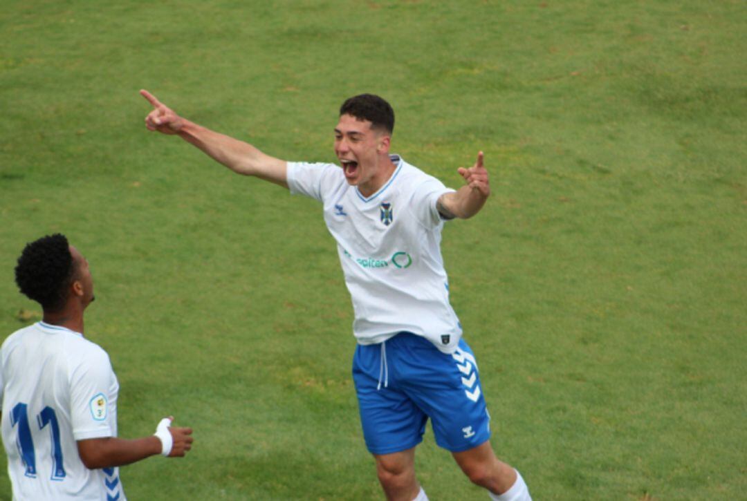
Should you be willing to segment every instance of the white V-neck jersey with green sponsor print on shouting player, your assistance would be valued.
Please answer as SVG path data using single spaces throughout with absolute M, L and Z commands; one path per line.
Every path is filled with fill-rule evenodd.
M 353 299 L 353 334 L 361 344 L 398 332 L 427 337 L 442 352 L 456 349 L 462 326 L 449 303 L 441 258 L 438 197 L 449 191 L 398 155 L 387 183 L 363 196 L 334 164 L 288 163 L 288 187 L 323 202 Z

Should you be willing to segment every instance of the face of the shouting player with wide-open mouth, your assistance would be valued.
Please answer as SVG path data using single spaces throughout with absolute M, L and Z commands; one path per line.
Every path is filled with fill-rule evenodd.
M 365 196 L 382 187 L 391 172 L 380 165 L 382 152 L 388 153 L 389 136 L 371 129 L 371 122 L 352 115 L 341 115 L 335 127 L 335 155 L 345 179 Z

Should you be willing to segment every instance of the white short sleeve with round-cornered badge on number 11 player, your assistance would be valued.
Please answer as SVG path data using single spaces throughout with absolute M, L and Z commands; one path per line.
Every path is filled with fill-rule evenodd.
M 91 350 L 70 376 L 70 419 L 75 440 L 114 436 L 117 376 L 103 349 Z

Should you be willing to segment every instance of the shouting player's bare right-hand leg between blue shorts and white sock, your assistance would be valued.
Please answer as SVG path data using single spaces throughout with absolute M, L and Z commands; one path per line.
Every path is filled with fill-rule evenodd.
M 506 493 L 518 479 L 516 470 L 495 457 L 490 442 L 464 452 L 452 452 L 452 455 L 471 482 L 488 489 L 492 494 Z M 528 495 L 527 492 L 527 497 Z

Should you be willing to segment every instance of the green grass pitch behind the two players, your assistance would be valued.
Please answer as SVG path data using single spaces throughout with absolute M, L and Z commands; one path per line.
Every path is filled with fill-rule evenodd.
M 13 266 L 61 231 L 120 436 L 195 429 L 123 469 L 130 500 L 382 499 L 320 206 L 149 134 L 137 91 L 309 161 L 379 93 L 394 151 L 447 185 L 485 152 L 494 195 L 443 252 L 534 499 L 744 499 L 746 32 L 727 0 L 6 1 L 0 332 L 38 320 Z M 432 500 L 487 499 L 430 429 L 417 467 Z

